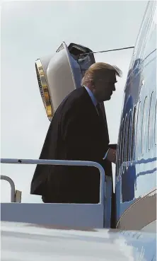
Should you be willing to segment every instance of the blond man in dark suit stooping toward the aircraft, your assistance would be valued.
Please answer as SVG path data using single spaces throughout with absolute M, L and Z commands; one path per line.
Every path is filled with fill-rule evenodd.
M 109 147 L 100 103 L 110 100 L 120 73 L 105 63 L 95 63 L 86 71 L 82 87 L 64 98 L 54 113 L 40 159 L 96 161 L 110 175 L 108 163 L 115 163 L 115 150 Z M 95 167 L 38 165 L 30 193 L 42 195 L 47 203 L 96 204 L 99 190 L 100 173 Z

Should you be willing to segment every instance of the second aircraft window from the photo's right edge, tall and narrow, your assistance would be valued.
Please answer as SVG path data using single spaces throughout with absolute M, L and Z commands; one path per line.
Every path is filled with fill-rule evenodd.
M 143 110 L 143 117 L 142 117 L 142 128 L 141 128 L 141 153 L 144 153 L 144 146 L 146 144 L 146 120 L 147 120 L 147 114 L 146 114 L 146 109 L 147 109 L 147 97 L 144 100 L 144 110 Z

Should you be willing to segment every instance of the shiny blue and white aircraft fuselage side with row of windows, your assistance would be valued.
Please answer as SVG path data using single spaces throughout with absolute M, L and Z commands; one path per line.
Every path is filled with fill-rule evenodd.
M 129 112 L 132 120 L 124 128 Z M 136 199 L 155 187 L 156 1 L 149 1 L 124 90 L 116 165 L 117 221 Z

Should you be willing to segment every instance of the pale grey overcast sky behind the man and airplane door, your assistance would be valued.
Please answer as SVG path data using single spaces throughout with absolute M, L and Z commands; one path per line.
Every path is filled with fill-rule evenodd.
M 64 41 L 93 51 L 134 46 L 147 1 L 3 1 L 1 5 L 1 158 L 40 156 L 50 122 L 35 75 L 35 60 L 53 54 Z M 123 90 L 133 50 L 95 54 L 96 62 L 123 71 L 117 91 L 105 103 L 110 143 L 117 143 Z M 35 166 L 1 166 L 22 190 L 22 202 L 41 202 L 30 195 Z M 10 199 L 1 181 L 1 202 Z

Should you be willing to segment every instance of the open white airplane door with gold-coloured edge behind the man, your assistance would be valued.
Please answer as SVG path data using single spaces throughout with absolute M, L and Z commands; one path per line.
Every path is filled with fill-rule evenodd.
M 82 45 L 71 43 L 67 47 L 62 42 L 54 55 L 35 61 L 40 94 L 50 121 L 66 95 L 81 87 L 86 69 L 95 63 L 91 52 Z

